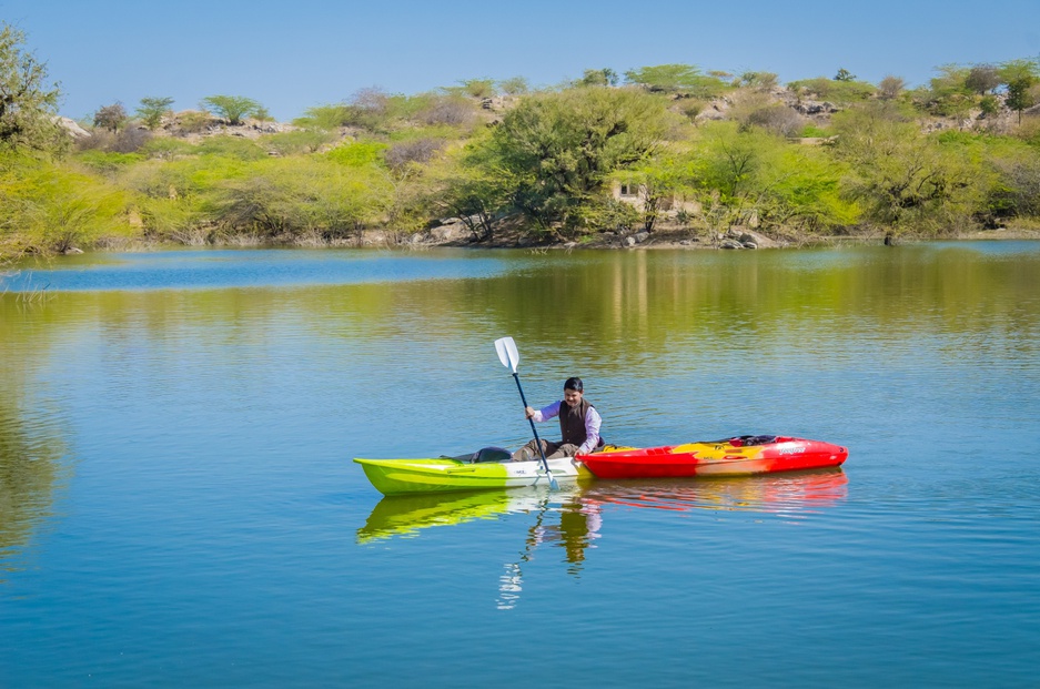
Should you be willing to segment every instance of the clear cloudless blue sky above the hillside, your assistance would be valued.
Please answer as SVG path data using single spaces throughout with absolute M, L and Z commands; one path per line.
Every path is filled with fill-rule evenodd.
M 544 85 L 673 62 L 917 85 L 940 64 L 1040 55 L 1040 0 L 0 0 L 0 20 L 27 33 L 74 119 L 149 95 L 186 110 L 224 94 L 284 121 L 366 87 Z

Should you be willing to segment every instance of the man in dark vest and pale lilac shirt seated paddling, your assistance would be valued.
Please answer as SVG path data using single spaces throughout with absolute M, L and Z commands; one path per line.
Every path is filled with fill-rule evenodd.
M 526 407 L 527 418 L 541 423 L 553 417 L 559 417 L 559 443 L 542 440 L 542 449 L 546 459 L 573 457 L 577 454 L 588 454 L 603 446 L 599 437 L 599 426 L 603 419 L 596 407 L 585 399 L 585 389 L 582 378 L 567 378 L 564 383 L 564 398 L 554 402 L 544 409 Z M 532 439 L 527 445 L 513 453 L 513 462 L 529 462 L 538 459 L 537 442 Z

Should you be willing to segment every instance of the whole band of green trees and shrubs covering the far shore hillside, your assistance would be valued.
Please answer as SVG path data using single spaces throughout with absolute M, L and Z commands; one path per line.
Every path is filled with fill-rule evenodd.
M 73 140 L 22 41 L 0 30 L 8 257 L 114 237 L 319 244 L 450 219 L 479 241 L 506 226 L 580 242 L 744 224 L 792 236 L 1040 225 L 1034 60 L 947 65 L 915 89 L 844 69 L 781 87 L 685 64 L 538 90 L 521 78 L 366 89 L 289 128 L 244 97 L 176 114 L 154 97 L 132 114 L 100 108 Z

